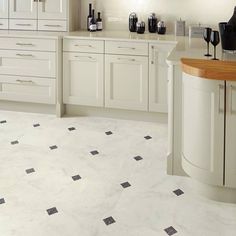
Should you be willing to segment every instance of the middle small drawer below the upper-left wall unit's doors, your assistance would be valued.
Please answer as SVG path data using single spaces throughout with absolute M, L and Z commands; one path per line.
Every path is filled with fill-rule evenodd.
M 37 20 L 9 20 L 9 29 L 14 30 L 37 30 Z

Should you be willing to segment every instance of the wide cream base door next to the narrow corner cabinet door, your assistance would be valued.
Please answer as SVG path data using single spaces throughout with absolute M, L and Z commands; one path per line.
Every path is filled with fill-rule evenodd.
M 105 106 L 147 111 L 148 58 L 106 55 Z

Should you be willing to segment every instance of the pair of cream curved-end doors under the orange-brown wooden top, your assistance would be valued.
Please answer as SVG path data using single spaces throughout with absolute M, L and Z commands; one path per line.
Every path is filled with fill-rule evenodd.
M 205 184 L 236 188 L 235 101 L 236 82 L 183 74 L 182 165 Z

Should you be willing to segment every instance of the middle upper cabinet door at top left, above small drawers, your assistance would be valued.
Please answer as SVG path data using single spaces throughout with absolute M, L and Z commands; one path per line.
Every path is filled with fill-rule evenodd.
M 10 0 L 10 18 L 37 19 L 37 1 Z

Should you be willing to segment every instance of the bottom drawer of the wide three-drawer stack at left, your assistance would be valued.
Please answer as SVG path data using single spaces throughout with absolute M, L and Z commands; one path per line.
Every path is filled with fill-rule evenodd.
M 0 75 L 0 99 L 55 104 L 55 79 Z

